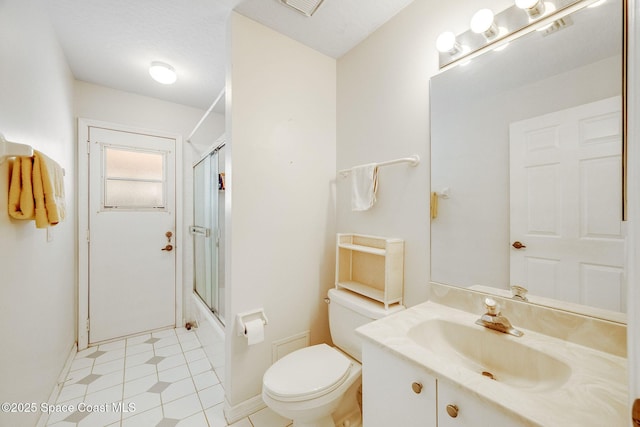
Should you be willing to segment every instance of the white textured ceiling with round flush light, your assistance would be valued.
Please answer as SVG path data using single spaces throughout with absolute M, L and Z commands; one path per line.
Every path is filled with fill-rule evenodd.
M 224 88 L 232 10 L 339 58 L 412 1 L 324 0 L 312 17 L 278 0 L 45 3 L 76 79 L 206 110 Z M 153 81 L 147 71 L 152 61 L 171 64 L 178 81 Z

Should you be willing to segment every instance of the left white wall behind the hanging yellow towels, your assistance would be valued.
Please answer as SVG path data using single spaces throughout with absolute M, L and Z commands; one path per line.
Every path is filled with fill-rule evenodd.
M 7 214 L 9 162 L 0 165 L 0 401 L 47 402 L 75 344 L 73 79 L 39 0 L 0 2 L 0 132 L 66 171 L 66 219 L 47 231 Z M 0 425 L 39 414 L 0 412 Z

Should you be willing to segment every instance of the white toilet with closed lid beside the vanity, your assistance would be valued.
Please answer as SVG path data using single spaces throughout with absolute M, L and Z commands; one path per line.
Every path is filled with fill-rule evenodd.
M 329 290 L 329 329 L 336 347 L 318 344 L 287 354 L 264 374 L 262 399 L 294 427 L 358 427 L 362 374 L 359 326 L 404 309 L 343 289 Z

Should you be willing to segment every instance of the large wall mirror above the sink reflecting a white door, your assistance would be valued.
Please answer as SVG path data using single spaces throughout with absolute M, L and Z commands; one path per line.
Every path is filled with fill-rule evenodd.
M 585 7 L 432 78 L 433 282 L 624 319 L 623 16 Z

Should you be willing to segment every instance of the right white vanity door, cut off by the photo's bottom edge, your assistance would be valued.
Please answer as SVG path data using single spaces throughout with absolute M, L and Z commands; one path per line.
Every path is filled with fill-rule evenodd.
M 451 405 L 449 408 L 451 414 L 447 411 L 449 405 Z M 462 387 L 438 381 L 438 427 L 521 427 L 525 425 L 515 416 L 500 412 L 497 407 L 474 397 Z

